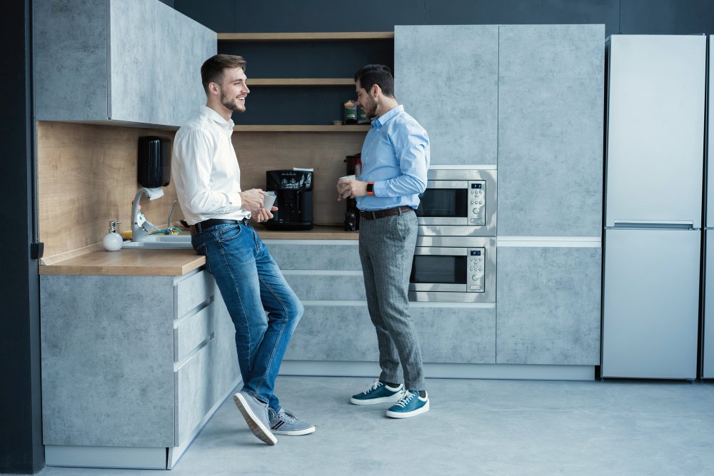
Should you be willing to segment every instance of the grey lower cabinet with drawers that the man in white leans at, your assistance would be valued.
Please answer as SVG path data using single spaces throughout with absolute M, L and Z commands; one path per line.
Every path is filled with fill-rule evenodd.
M 47 464 L 171 467 L 240 380 L 233 336 L 205 271 L 41 275 Z

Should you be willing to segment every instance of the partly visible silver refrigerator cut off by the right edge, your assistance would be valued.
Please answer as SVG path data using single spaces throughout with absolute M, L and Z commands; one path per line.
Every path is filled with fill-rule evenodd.
M 702 367 L 701 378 L 714 378 L 714 36 L 709 36 L 709 78 L 708 78 L 708 140 L 706 215 L 704 218 L 704 285 L 702 319 Z

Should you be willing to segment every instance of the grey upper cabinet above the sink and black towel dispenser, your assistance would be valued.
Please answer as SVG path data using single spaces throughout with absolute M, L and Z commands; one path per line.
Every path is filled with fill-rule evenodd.
M 216 33 L 159 0 L 35 0 L 35 118 L 181 126 Z

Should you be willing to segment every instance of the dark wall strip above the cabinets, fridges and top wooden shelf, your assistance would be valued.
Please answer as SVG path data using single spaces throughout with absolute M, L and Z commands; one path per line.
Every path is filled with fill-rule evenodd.
M 166 0 L 169 3 L 170 0 Z M 605 34 L 714 34 L 712 0 L 173 0 L 219 33 L 391 31 L 394 25 L 605 24 Z

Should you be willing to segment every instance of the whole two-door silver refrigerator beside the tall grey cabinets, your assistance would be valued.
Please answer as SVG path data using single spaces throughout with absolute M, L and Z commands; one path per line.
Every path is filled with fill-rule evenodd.
M 697 378 L 706 51 L 606 41 L 603 378 Z

